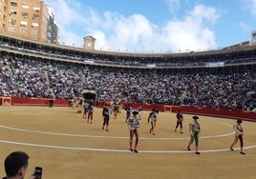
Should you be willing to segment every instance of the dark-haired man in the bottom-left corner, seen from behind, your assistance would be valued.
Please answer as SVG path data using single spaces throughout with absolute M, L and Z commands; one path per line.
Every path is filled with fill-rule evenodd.
M 29 166 L 29 158 L 29 155 L 23 151 L 11 152 L 5 159 L 6 176 L 2 179 L 23 179 Z M 32 173 L 29 178 L 35 179 L 36 177 Z

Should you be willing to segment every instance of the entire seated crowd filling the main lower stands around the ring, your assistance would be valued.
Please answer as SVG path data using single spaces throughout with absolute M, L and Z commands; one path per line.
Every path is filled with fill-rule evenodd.
M 1 56 L 0 95 L 70 99 L 92 88 L 99 100 L 183 105 L 215 109 L 255 109 L 256 71 L 169 72 L 85 68 L 74 63 Z M 249 94 L 249 95 L 248 95 Z

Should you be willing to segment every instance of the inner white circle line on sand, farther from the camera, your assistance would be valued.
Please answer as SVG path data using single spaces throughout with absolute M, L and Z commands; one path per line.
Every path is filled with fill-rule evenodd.
M 33 133 L 41 133 L 41 134 L 50 134 L 50 135 L 60 135 L 60 136 L 70 136 L 70 137 L 87 137 L 87 138 L 109 138 L 109 139 L 128 139 L 129 137 L 120 137 L 120 136 L 104 136 L 104 135 L 84 135 L 84 134 L 71 134 L 71 133 L 57 133 L 57 132 L 50 132 L 50 131 L 37 131 L 31 129 L 16 129 L 7 126 L 0 125 L 0 128 L 3 129 L 12 129 L 24 132 L 33 132 Z M 218 138 L 218 137 L 225 137 L 234 134 L 234 132 L 222 134 L 222 135 L 212 135 L 212 136 L 201 136 L 201 139 L 207 138 Z M 140 137 L 141 140 L 187 140 L 190 139 L 189 137 Z

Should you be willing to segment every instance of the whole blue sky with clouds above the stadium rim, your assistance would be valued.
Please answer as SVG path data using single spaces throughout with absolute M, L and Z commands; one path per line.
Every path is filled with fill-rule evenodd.
M 179 52 L 217 50 L 251 39 L 256 0 L 45 0 L 61 44 L 96 50 Z

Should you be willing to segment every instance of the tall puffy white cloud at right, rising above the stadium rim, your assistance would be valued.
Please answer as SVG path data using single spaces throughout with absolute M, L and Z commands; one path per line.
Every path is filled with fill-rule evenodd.
M 170 21 L 164 28 L 164 34 L 172 50 L 209 50 L 217 47 L 215 35 L 205 23 L 213 24 L 219 18 L 213 8 L 196 6 L 184 20 Z

